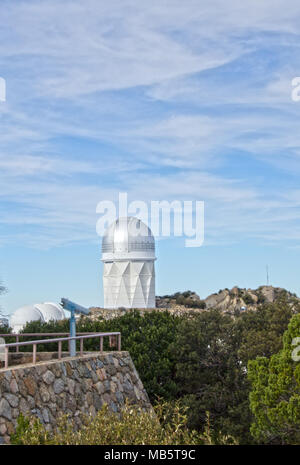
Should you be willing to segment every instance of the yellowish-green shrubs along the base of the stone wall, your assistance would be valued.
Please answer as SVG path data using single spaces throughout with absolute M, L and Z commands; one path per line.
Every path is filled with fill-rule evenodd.
M 124 405 L 121 415 L 108 411 L 106 404 L 94 418 L 83 418 L 79 431 L 67 416 L 50 433 L 35 417 L 20 415 L 11 443 L 15 445 L 194 445 L 212 444 L 209 424 L 204 434 L 187 428 L 185 410 L 175 403 L 158 404 L 154 412 Z M 223 437 L 226 444 L 230 438 Z

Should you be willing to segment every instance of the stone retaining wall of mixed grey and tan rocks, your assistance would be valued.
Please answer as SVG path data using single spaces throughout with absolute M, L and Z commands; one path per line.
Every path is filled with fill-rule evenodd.
M 0 444 L 9 443 L 20 413 L 36 415 L 51 431 L 61 414 L 81 425 L 104 403 L 117 412 L 128 399 L 151 409 L 128 352 L 90 352 L 0 370 Z

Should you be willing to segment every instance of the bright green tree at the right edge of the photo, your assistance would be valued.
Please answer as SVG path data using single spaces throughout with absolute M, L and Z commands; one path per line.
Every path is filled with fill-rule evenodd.
M 249 361 L 250 407 L 255 417 L 251 433 L 260 442 L 300 443 L 300 361 L 296 357 L 300 347 L 293 345 L 294 338 L 298 338 L 296 344 L 300 346 L 299 337 L 297 314 L 291 319 L 283 348 L 277 354 Z

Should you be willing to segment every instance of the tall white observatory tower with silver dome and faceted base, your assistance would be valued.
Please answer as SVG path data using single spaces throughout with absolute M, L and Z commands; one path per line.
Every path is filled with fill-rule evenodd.
M 155 307 L 155 241 L 141 220 L 121 217 L 102 240 L 105 308 Z

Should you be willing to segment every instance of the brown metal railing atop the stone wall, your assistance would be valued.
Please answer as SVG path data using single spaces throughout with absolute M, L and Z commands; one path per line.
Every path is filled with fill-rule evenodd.
M 17 339 L 21 336 L 57 336 L 57 335 L 65 335 L 69 333 L 23 333 L 23 334 L 0 334 L 0 337 L 10 337 L 10 336 L 16 336 Z M 71 340 L 79 340 L 80 341 L 80 355 L 83 355 L 83 340 L 84 339 L 92 339 L 92 338 L 99 338 L 99 351 L 103 352 L 103 338 L 105 336 L 109 337 L 109 343 L 110 346 L 112 347 L 114 344 L 114 340 L 117 339 L 117 346 L 118 346 L 118 351 L 121 350 L 121 333 L 120 332 L 115 332 L 115 333 L 78 333 L 78 336 L 75 337 L 61 337 L 61 338 L 54 338 L 54 339 L 40 339 L 37 341 L 23 341 L 23 342 L 12 342 L 10 344 L 5 344 L 4 345 L 4 368 L 8 368 L 8 354 L 9 354 L 9 349 L 11 347 L 16 348 L 16 352 L 19 352 L 19 347 L 21 346 L 28 346 L 32 345 L 33 350 L 32 350 L 32 363 L 36 364 L 36 354 L 37 354 L 37 345 L 38 344 L 50 344 L 53 342 L 58 343 L 58 360 L 62 358 L 62 343 L 64 341 L 68 341 L 70 344 Z M 77 352 L 76 352 L 77 355 Z

